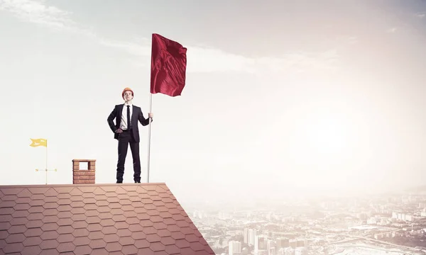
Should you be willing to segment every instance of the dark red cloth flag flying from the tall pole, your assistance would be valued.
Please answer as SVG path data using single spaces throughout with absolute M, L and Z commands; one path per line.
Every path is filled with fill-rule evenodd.
M 153 34 L 151 52 L 151 93 L 180 96 L 185 86 L 187 48 Z

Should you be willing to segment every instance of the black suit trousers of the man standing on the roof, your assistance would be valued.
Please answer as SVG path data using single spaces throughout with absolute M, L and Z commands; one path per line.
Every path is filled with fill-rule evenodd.
M 133 180 L 141 181 L 141 158 L 139 157 L 139 142 L 135 142 L 133 132 L 124 131 L 119 134 L 119 162 L 117 162 L 117 182 L 123 182 L 124 163 L 126 162 L 127 149 L 131 149 L 133 157 Z

